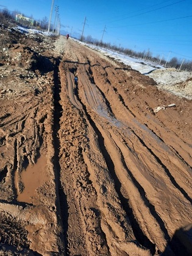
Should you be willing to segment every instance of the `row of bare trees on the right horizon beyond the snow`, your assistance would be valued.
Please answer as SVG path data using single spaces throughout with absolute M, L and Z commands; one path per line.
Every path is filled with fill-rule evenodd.
M 192 71 L 192 61 L 191 60 L 183 60 L 183 59 L 177 59 L 176 57 L 172 57 L 171 60 L 166 61 L 163 56 L 156 56 L 154 57 L 152 55 L 152 52 L 148 49 L 148 51 L 143 52 L 137 52 L 133 51 L 129 48 L 123 48 L 121 46 L 116 46 L 115 44 L 110 43 L 104 43 L 102 41 L 99 41 L 97 39 L 94 39 L 91 37 L 91 35 L 88 35 L 88 37 L 83 37 L 82 41 L 85 41 L 90 44 L 94 44 L 96 46 L 100 46 L 102 48 L 107 48 L 115 52 L 119 52 L 125 55 L 128 55 L 133 58 L 141 59 L 143 61 L 152 62 L 154 65 L 161 65 L 166 66 L 168 68 L 176 68 L 180 70 L 187 70 Z

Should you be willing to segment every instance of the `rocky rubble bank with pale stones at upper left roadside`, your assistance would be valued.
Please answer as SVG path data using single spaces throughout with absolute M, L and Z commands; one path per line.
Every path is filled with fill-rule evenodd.
M 1 98 L 15 97 L 26 91 L 38 90 L 40 93 L 49 84 L 55 38 L 32 31 L 26 33 L 21 29 L 0 26 Z

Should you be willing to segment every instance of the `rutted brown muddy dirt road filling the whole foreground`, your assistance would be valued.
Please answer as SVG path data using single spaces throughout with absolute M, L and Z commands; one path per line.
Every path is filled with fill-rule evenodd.
M 71 38 L 1 41 L 0 254 L 187 254 L 191 101 Z

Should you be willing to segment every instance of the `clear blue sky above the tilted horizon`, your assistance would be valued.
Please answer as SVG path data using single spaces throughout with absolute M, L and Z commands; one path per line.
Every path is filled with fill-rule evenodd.
M 44 16 L 49 20 L 51 4 L 52 0 L 0 0 L 0 5 L 10 11 L 33 15 L 35 20 Z M 192 60 L 191 0 L 54 0 L 52 23 L 55 5 L 59 5 L 61 30 L 72 37 L 80 37 L 86 17 L 85 37 L 101 40 L 105 29 L 106 43 L 135 51 L 149 50 L 169 60 Z

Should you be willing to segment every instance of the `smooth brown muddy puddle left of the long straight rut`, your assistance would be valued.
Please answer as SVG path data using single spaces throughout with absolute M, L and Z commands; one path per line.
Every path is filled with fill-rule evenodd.
M 46 157 L 41 155 L 35 165 L 29 165 L 26 170 L 21 173 L 21 182 L 24 184 L 24 190 L 23 193 L 18 193 L 17 200 L 19 202 L 27 202 L 31 204 L 33 198 L 37 197 L 36 189 L 48 180 L 46 175 L 46 164 Z M 16 175 L 15 178 L 18 180 L 18 175 Z

